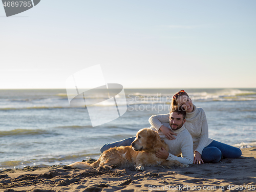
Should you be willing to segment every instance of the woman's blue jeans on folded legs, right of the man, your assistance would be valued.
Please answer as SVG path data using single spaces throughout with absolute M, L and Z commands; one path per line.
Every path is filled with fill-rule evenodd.
M 208 146 L 204 147 L 201 158 L 204 163 L 218 163 L 222 156 L 224 158 L 239 158 L 241 155 L 240 148 L 214 140 Z

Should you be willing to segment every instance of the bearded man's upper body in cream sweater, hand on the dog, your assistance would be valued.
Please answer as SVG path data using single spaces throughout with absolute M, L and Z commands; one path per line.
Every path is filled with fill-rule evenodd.
M 186 112 L 179 106 L 174 106 L 170 111 L 169 123 L 161 122 L 165 127 L 168 127 L 169 131 L 175 133 L 174 140 L 165 137 L 164 132 L 168 130 L 157 131 L 153 126 L 150 127 L 153 131 L 157 131 L 161 139 L 163 139 L 169 146 L 167 152 L 165 148 L 161 148 L 156 153 L 158 158 L 166 160 L 177 160 L 183 164 L 192 164 L 194 160 L 193 153 L 193 139 L 189 132 L 185 129 L 184 123 L 186 122 Z M 178 157 L 182 154 L 182 157 Z

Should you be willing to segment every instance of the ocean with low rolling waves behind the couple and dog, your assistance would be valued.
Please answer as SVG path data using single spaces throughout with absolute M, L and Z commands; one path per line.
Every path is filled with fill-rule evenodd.
M 127 111 L 93 127 L 88 109 L 70 106 L 66 90 L 0 90 L 0 170 L 97 159 L 103 144 L 135 136 L 150 127 L 152 115 L 168 113 L 177 91 L 124 89 L 126 99 L 118 106 Z M 185 91 L 204 109 L 210 138 L 240 148 L 256 146 L 256 89 Z

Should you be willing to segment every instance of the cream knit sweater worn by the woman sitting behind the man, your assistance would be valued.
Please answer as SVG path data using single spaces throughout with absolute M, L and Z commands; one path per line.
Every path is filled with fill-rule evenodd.
M 148 121 L 150 121 L 150 124 L 158 131 L 163 125 L 162 123 L 169 123 L 169 114 L 153 115 Z M 193 138 L 194 152 L 197 151 L 202 154 L 204 147 L 213 141 L 213 139 L 208 137 L 208 123 L 204 110 L 194 105 L 193 112 L 186 113 L 184 126 Z

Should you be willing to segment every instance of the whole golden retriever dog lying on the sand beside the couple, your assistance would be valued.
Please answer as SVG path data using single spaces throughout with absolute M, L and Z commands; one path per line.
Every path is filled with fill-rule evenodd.
M 76 162 L 68 166 L 72 168 L 88 169 L 102 166 L 104 168 L 125 168 L 134 166 L 136 170 L 144 170 L 144 166 L 167 165 L 188 167 L 179 161 L 169 161 L 156 157 L 156 152 L 164 147 L 168 151 L 168 145 L 161 140 L 158 133 L 151 129 L 139 130 L 136 139 L 130 146 L 118 146 L 104 151 L 99 159 L 92 164 Z

